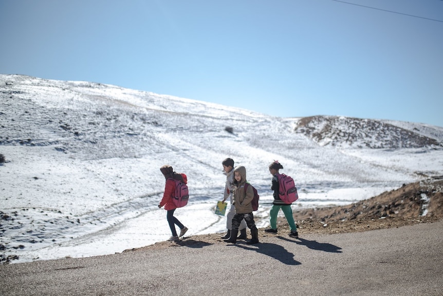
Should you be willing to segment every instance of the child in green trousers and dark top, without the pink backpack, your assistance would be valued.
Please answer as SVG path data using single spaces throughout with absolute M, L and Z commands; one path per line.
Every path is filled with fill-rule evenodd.
M 279 169 L 283 168 L 283 166 L 278 162 L 274 161 L 269 165 L 269 172 L 272 175 L 272 186 L 271 190 L 274 190 L 274 201 L 272 202 L 272 208 L 270 211 L 270 223 L 271 228 L 265 229 L 266 232 L 277 233 L 277 215 L 279 214 L 280 209 L 282 209 L 283 214 L 285 214 L 286 220 L 288 221 L 289 227 L 291 228 L 291 232 L 289 236 L 294 238 L 299 238 L 299 234 L 297 232 L 297 225 L 294 222 L 294 217 L 292 216 L 292 208 L 291 204 L 284 203 L 279 196 Z

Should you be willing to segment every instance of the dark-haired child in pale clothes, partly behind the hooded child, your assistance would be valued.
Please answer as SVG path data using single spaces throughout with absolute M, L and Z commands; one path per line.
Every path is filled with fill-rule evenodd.
M 231 237 L 231 229 L 232 229 L 232 218 L 235 214 L 235 206 L 233 203 L 233 193 L 234 193 L 234 160 L 231 158 L 227 158 L 222 162 L 223 171 L 226 176 L 226 185 L 225 192 L 223 194 L 223 202 L 225 202 L 229 198 L 229 212 L 226 214 L 226 228 L 228 232 L 226 235 L 222 236 L 222 238 L 230 238 Z M 237 239 L 246 239 L 246 222 L 242 220 L 240 226 L 238 227 L 240 231 L 240 235 L 238 235 Z

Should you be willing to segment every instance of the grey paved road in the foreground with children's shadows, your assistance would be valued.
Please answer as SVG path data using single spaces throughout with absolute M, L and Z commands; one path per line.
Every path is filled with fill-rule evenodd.
M 261 239 L 0 266 L 0 295 L 443 295 L 443 221 Z

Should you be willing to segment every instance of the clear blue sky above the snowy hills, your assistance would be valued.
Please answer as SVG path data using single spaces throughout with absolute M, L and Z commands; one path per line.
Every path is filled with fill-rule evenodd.
M 443 127 L 443 1 L 344 2 L 0 0 L 0 73 Z

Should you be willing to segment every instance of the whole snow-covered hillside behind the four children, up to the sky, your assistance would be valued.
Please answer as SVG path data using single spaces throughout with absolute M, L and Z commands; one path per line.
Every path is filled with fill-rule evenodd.
M 264 227 L 273 160 L 297 182 L 294 208 L 348 204 L 442 175 L 442 143 L 443 128 L 416 123 L 271 117 L 114 85 L 0 75 L 0 254 L 81 257 L 167 239 L 157 208 L 164 164 L 187 174 L 191 199 L 177 215 L 202 234 L 225 230 L 213 210 L 227 157 L 259 190 L 254 215 Z

